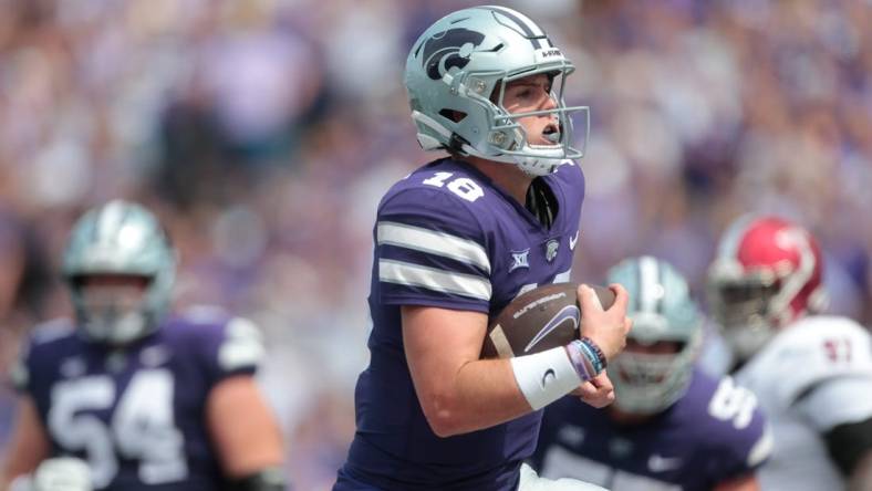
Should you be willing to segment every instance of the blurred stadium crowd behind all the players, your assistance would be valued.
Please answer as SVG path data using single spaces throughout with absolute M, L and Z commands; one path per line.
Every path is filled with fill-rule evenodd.
M 381 194 L 430 156 L 402 70 L 464 1 L 0 0 L 0 363 L 69 312 L 85 208 L 138 200 L 180 251 L 179 305 L 269 339 L 262 382 L 298 489 L 333 482 L 366 364 Z M 521 0 L 592 107 L 575 280 L 629 254 L 697 292 L 724 226 L 777 211 L 820 238 L 833 310 L 872 321 L 872 2 Z M 6 370 L 0 370 L 6 380 Z M 14 396 L 0 388 L 0 458 Z

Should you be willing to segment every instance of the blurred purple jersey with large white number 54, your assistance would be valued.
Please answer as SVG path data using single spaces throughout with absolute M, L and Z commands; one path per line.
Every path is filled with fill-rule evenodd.
M 19 389 L 33 398 L 52 456 L 87 460 L 95 489 L 220 490 L 205 406 L 216 384 L 255 373 L 251 330 L 248 321 L 197 314 L 110 348 L 54 322 L 31 335 Z

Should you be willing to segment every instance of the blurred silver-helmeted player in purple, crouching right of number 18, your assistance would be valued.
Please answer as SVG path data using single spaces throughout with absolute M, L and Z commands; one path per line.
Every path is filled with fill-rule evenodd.
M 613 491 L 757 490 L 771 437 L 749 390 L 694 368 L 704 317 L 684 278 L 645 255 L 612 268 L 609 281 L 627 289 L 633 317 L 609 367 L 615 404 L 549 406 L 533 466 Z

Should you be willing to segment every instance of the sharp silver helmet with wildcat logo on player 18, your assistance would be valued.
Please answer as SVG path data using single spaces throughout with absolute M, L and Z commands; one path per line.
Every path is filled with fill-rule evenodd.
M 518 165 L 529 175 L 552 173 L 583 153 L 572 146 L 565 77 L 575 70 L 544 31 L 505 7 L 474 7 L 436 21 L 412 46 L 405 84 L 417 137 L 425 150 L 447 149 Z M 502 105 L 506 85 L 544 73 L 552 77 L 552 109 L 510 114 Z M 550 145 L 529 143 L 518 118 L 551 114 L 558 130 Z M 585 138 L 586 139 L 586 138 Z

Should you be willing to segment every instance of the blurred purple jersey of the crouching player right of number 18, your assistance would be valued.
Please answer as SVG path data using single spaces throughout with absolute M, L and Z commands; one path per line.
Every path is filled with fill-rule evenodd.
M 533 467 L 613 491 L 710 490 L 747 476 L 769 453 L 755 396 L 733 379 L 694 372 L 687 393 L 637 425 L 564 397 L 544 410 Z

